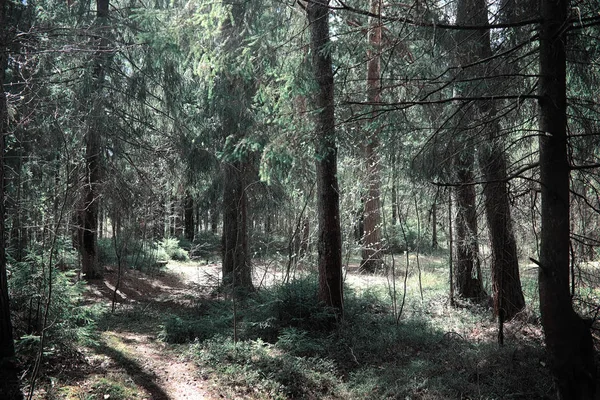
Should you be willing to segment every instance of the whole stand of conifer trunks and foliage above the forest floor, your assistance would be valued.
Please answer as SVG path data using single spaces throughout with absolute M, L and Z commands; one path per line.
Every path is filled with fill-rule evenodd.
M 35 381 L 58 299 L 109 264 L 219 259 L 234 302 L 265 260 L 315 271 L 333 331 L 346 268 L 410 253 L 500 344 L 539 316 L 559 398 L 597 398 L 599 24 L 592 1 L 0 0 L 0 397 L 15 341 Z

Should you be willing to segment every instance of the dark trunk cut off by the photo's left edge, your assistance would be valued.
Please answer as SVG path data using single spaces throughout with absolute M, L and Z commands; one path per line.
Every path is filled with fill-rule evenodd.
M 0 0 L 0 398 L 21 399 L 18 370 L 15 364 L 15 346 L 8 298 L 5 239 L 5 138 L 8 135 L 8 104 L 4 93 L 5 70 L 8 61 L 8 5 Z

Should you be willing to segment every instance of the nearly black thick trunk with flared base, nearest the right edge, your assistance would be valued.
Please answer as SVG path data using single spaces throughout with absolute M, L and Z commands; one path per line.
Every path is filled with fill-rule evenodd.
M 590 326 L 573 310 L 569 291 L 569 161 L 566 32 L 570 2 L 543 1 L 540 29 L 540 179 L 542 230 L 540 312 L 558 396 L 593 399 L 597 391 Z

